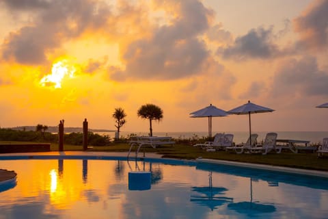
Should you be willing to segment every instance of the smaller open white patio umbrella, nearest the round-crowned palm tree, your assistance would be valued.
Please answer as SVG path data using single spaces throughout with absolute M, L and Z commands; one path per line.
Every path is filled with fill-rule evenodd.
M 201 110 L 197 110 L 195 112 L 192 112 L 190 114 L 191 118 L 203 118 L 203 117 L 208 117 L 208 137 L 210 138 L 209 140 L 212 139 L 212 117 L 219 117 L 219 116 L 228 116 L 229 114 L 221 110 L 214 105 L 210 104 L 208 107 L 205 107 Z

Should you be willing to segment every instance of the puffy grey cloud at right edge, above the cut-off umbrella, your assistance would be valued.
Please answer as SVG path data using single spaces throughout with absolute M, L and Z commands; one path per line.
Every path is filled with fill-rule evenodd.
M 273 78 L 274 96 L 301 94 L 304 96 L 328 95 L 328 72 L 320 70 L 315 57 L 290 59 L 280 66 Z

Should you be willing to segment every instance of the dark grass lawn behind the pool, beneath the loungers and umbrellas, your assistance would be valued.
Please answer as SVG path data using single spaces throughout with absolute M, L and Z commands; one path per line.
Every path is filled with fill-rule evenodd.
M 6 143 L 8 142 L 1 142 Z M 17 144 L 18 142 L 12 142 Z M 27 142 L 22 142 L 27 143 Z M 82 151 L 82 146 L 64 144 L 64 151 Z M 106 151 L 106 152 L 128 152 L 129 145 L 127 143 L 112 143 L 110 146 L 93 146 L 88 151 Z M 51 144 L 51 151 L 57 151 L 58 144 Z M 158 146 L 153 149 L 151 146 L 143 146 L 139 151 L 139 156 L 143 152 L 159 153 L 163 157 L 176 158 L 176 159 L 196 159 L 203 157 L 207 159 L 223 159 L 234 162 L 247 162 L 253 164 L 269 164 L 274 166 L 286 166 L 292 168 L 303 168 L 310 170 L 325 170 L 328 171 L 328 156 L 318 158 L 317 153 L 269 153 L 262 154 L 236 154 L 233 151 L 216 151 L 206 152 L 202 149 L 187 145 L 187 144 L 173 144 Z

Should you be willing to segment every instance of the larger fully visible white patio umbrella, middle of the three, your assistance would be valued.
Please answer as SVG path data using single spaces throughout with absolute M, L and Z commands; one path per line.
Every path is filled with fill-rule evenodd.
M 229 110 L 229 114 L 236 114 L 236 115 L 245 115 L 248 114 L 249 116 L 249 140 L 251 140 L 251 114 L 258 114 L 261 112 L 273 112 L 275 110 L 272 110 L 267 107 L 262 107 L 260 105 L 256 105 L 254 103 L 251 103 L 251 101 L 248 101 L 248 103 L 245 103 L 244 105 L 241 105 L 240 107 L 236 107 L 232 110 Z M 249 142 L 251 145 L 251 142 Z

